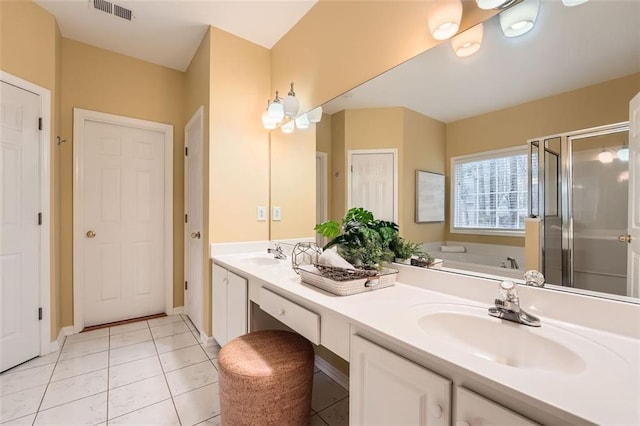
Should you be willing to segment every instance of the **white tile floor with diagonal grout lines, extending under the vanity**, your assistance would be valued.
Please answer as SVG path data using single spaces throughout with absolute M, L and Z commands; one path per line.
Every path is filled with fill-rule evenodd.
M 217 355 L 173 315 L 67 337 L 0 375 L 0 423 L 219 425 Z M 347 425 L 349 394 L 316 369 L 312 426 Z

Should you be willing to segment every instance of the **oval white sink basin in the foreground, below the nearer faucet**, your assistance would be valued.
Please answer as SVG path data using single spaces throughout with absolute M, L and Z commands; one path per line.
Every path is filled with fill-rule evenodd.
M 587 367 L 577 350 L 604 349 L 544 321 L 540 328 L 528 327 L 491 317 L 478 306 L 434 304 L 419 311 L 418 325 L 430 337 L 508 367 L 574 375 Z

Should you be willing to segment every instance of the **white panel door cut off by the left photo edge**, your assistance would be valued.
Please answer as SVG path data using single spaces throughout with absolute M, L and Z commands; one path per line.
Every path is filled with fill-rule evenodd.
M 1 82 L 0 371 L 40 352 L 40 97 Z

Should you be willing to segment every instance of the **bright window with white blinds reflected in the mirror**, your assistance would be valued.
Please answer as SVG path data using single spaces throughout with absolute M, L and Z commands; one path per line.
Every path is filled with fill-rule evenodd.
M 452 176 L 452 231 L 524 232 L 526 148 L 455 157 Z

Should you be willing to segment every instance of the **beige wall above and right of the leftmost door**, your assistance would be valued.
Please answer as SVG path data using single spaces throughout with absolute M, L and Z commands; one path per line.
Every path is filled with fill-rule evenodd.
M 49 226 L 51 340 L 62 326 L 60 312 L 60 31 L 54 17 L 30 1 L 0 1 L 0 69 L 51 91 Z M 45 219 L 47 220 L 47 219 Z M 46 308 L 45 308 L 46 309 Z

